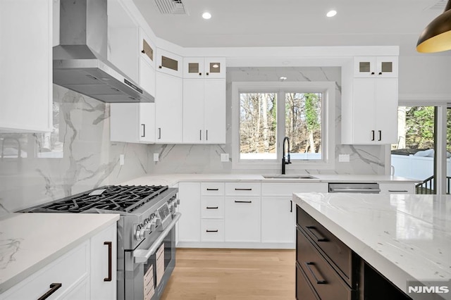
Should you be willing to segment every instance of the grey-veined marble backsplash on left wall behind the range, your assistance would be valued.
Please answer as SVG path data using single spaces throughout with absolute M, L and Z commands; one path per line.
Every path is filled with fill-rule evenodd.
M 147 146 L 109 136 L 109 104 L 54 85 L 54 132 L 0 134 L 0 215 L 146 175 Z

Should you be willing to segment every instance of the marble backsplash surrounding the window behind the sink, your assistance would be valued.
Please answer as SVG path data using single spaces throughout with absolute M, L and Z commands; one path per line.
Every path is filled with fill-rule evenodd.
M 240 81 L 333 81 L 335 82 L 335 170 L 305 170 L 310 174 L 384 174 L 385 147 L 341 145 L 341 69 L 339 67 L 227 68 L 227 138 L 223 145 L 149 145 L 149 157 L 159 154 L 159 161 L 149 159 L 150 173 L 275 173 L 280 170 L 233 170 L 231 161 L 221 162 L 221 153 L 232 157 L 232 82 Z M 339 154 L 350 154 L 349 163 L 338 163 Z M 288 167 L 289 169 L 289 167 Z

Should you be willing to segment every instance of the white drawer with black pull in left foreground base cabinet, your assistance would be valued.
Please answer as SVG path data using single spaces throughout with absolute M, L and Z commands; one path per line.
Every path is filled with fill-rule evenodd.
M 61 284 L 58 289 L 55 287 L 56 291 L 52 294 L 52 299 L 57 299 L 85 277 L 89 277 L 89 241 L 0 294 L 0 299 L 38 299 L 49 292 L 50 285 L 54 283 Z

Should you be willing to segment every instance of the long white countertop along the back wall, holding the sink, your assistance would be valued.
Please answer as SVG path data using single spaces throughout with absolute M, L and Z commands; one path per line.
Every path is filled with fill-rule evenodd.
M 264 174 L 266 175 L 266 174 Z M 289 175 L 309 175 L 309 174 L 288 174 Z M 236 181 L 256 181 L 256 182 L 420 182 L 421 180 L 396 177 L 390 175 L 311 175 L 313 179 L 268 179 L 261 174 L 155 174 L 137 177 L 121 185 L 175 185 L 178 182 L 236 182 Z

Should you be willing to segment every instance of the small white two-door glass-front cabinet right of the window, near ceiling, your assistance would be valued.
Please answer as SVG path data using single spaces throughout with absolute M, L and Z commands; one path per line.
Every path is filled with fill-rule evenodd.
M 397 78 L 397 56 L 355 56 L 354 77 Z

